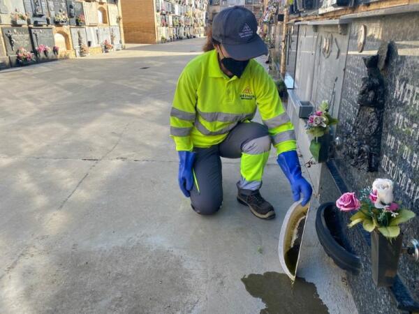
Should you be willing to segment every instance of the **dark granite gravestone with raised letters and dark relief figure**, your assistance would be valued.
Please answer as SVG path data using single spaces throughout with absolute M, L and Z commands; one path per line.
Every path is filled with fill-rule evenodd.
M 359 190 L 371 186 L 376 177 L 392 179 L 395 182 L 395 198 L 404 207 L 416 212 L 417 216 L 413 221 L 402 225 L 405 242 L 418 238 L 419 224 L 417 19 L 417 13 L 412 13 L 353 21 L 337 128 L 337 135 L 344 139 L 345 144 L 344 149 L 337 154 L 336 163 L 348 186 Z M 365 40 L 362 32 L 366 34 Z M 362 77 L 368 77 L 362 57 L 371 57 L 377 51 L 380 57 L 378 71 L 384 82 L 383 91 L 378 91 L 382 96 L 382 110 L 360 106 L 359 98 L 360 91 L 364 88 Z M 370 73 L 372 71 L 376 70 L 370 70 Z M 362 110 L 367 114 L 362 114 Z M 362 149 L 365 144 L 369 147 L 370 154 Z M 356 253 L 363 257 L 366 268 L 366 272 L 362 271 L 360 276 L 351 278 L 353 291 L 362 287 L 362 293 L 354 293 L 354 298 L 357 304 L 364 304 L 365 313 L 372 313 L 376 302 L 367 300 L 379 302 L 391 298 L 386 290 L 377 290 L 371 277 L 368 277 L 369 249 L 357 245 L 362 243 L 360 232 L 346 230 L 346 233 L 351 238 Z M 419 296 L 419 264 L 402 255 L 399 275 L 411 294 Z M 395 304 L 390 304 L 382 313 L 398 312 Z

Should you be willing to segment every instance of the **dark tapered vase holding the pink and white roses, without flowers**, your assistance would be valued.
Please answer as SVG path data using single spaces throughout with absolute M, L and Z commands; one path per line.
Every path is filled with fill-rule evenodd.
M 390 287 L 397 275 L 403 234 L 388 240 L 380 232 L 371 232 L 372 279 L 377 287 Z

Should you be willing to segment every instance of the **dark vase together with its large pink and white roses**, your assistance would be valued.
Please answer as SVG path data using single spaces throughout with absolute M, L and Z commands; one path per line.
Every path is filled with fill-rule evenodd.
M 378 287 L 390 287 L 395 282 L 397 265 L 402 253 L 402 238 L 399 225 L 411 220 L 416 214 L 394 201 L 393 182 L 389 179 L 375 179 L 372 188 L 359 192 L 344 193 L 336 201 L 341 211 L 353 211 L 348 227 L 362 224 L 371 234 L 372 278 Z M 416 258 L 416 240 L 406 253 Z M 419 246 L 418 246 L 419 251 Z M 417 254 L 419 256 L 419 252 Z M 419 258 L 417 258 L 419 260 Z

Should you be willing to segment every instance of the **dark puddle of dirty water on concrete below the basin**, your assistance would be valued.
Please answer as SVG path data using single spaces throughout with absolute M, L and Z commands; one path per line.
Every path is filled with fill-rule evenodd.
M 302 278 L 296 278 L 292 284 L 286 274 L 270 271 L 250 274 L 242 282 L 247 292 L 265 303 L 260 314 L 329 313 L 318 297 L 316 286 Z

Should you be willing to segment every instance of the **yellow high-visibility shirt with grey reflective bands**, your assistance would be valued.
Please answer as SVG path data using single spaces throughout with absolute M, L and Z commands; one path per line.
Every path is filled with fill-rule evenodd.
M 242 77 L 230 78 L 221 70 L 216 50 L 205 52 L 191 60 L 179 77 L 170 137 L 177 151 L 219 144 L 239 122 L 251 120 L 256 108 L 277 154 L 295 150 L 293 124 L 263 66 L 251 59 Z

